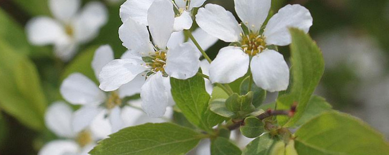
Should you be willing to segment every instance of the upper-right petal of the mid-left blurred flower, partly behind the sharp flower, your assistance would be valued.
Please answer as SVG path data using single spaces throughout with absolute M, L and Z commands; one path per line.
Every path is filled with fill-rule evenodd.
M 143 86 L 145 80 L 145 75 L 137 75 L 133 80 L 119 88 L 119 97 L 124 98 L 126 96 L 132 96 L 137 93 L 141 93 L 141 87 Z

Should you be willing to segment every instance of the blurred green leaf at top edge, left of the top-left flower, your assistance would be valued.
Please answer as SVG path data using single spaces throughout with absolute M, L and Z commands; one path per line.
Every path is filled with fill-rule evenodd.
M 23 10 L 32 16 L 47 15 L 50 16 L 49 0 L 13 0 Z

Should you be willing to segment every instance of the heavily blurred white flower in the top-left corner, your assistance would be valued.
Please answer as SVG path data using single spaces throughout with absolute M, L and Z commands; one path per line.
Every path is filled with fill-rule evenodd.
M 53 44 L 54 53 L 64 61 L 70 60 L 78 44 L 95 38 L 107 21 L 104 4 L 88 2 L 79 10 L 80 0 L 49 0 L 49 6 L 55 19 L 38 16 L 26 25 L 29 41 L 34 45 Z

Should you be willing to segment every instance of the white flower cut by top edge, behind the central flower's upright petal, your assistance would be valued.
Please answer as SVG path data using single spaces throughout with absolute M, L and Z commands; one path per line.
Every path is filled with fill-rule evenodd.
M 120 7 L 120 17 L 123 23 L 128 19 L 149 25 L 147 21 L 147 11 L 151 4 L 155 0 L 127 0 Z M 192 27 L 192 16 L 191 11 L 193 8 L 200 7 L 206 0 L 175 0 L 172 1 L 176 13 L 174 20 L 174 31 L 189 30 Z M 172 8 L 173 9 L 173 8 Z

